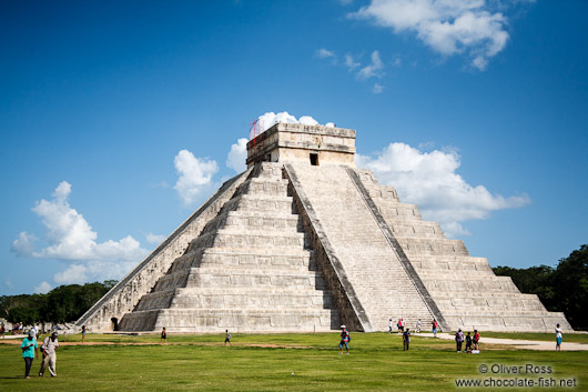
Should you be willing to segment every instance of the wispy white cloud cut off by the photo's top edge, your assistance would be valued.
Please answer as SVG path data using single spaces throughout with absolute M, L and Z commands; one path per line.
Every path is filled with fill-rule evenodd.
M 349 18 L 392 28 L 395 33 L 414 32 L 443 56 L 467 52 L 479 70 L 509 38 L 506 17 L 493 12 L 485 0 L 372 0 Z

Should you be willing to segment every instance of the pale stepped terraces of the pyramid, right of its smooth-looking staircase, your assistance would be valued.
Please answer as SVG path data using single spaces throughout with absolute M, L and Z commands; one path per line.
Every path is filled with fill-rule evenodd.
M 394 188 L 381 185 L 371 171 L 356 172 L 450 330 L 552 332 L 557 323 L 572 330 L 564 313 L 548 312 L 537 295 L 495 275 L 486 259 L 470 257 L 462 241 L 446 239 L 438 223 L 423 221 Z

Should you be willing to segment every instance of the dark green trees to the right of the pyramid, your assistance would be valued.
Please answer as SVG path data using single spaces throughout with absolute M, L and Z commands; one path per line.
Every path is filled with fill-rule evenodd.
M 588 244 L 560 259 L 556 268 L 493 270 L 497 275 L 510 277 L 521 292 L 537 294 L 547 310 L 566 313 L 575 330 L 588 330 Z

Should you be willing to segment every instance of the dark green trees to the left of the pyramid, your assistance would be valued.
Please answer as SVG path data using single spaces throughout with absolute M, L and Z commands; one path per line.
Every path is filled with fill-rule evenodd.
M 102 283 L 60 285 L 47 294 L 2 295 L 0 318 L 24 325 L 34 322 L 75 321 L 114 284 L 115 280 L 107 280 Z

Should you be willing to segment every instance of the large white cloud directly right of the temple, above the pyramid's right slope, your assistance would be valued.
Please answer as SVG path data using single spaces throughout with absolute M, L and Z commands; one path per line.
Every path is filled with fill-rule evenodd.
M 373 157 L 357 154 L 356 164 L 372 170 L 381 183 L 395 187 L 401 201 L 417 204 L 425 219 L 439 222 L 450 237 L 468 234 L 462 222 L 530 202 L 526 194 L 504 198 L 484 185 L 468 184 L 456 172 L 460 161 L 455 151 L 422 152 L 391 143 Z

